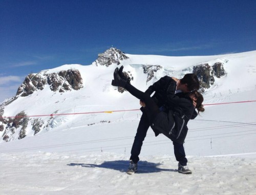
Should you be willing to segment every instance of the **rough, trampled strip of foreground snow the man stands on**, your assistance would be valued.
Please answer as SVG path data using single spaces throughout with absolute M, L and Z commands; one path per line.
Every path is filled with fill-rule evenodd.
M 255 194 L 256 160 L 188 157 L 193 174 L 170 156 L 145 156 L 135 175 L 116 153 L 0 154 L 1 194 Z

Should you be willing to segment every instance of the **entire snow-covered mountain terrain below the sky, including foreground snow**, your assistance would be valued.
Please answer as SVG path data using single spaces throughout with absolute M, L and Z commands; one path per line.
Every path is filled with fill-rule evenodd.
M 164 75 L 200 78 L 205 112 L 188 122 L 184 143 L 192 175 L 178 174 L 172 142 L 151 129 L 137 174 L 125 174 L 141 112 L 111 85 L 121 65 L 142 91 Z M 111 48 L 89 66 L 30 74 L 0 106 L 0 194 L 254 195 L 255 97 L 256 51 L 168 57 Z

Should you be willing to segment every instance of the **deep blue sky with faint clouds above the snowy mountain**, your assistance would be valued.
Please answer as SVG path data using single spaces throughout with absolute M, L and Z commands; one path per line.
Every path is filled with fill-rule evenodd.
M 0 102 L 29 73 L 129 54 L 256 50 L 256 1 L 0 0 Z

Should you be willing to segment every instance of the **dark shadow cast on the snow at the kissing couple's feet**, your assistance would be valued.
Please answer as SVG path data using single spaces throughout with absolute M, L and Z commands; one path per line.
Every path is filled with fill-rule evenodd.
M 68 166 L 82 166 L 87 168 L 109 168 L 114 170 L 119 170 L 120 172 L 126 172 L 129 161 L 118 160 L 118 161 L 106 161 L 102 164 L 84 164 L 84 163 L 70 163 Z M 159 168 L 158 166 L 162 165 L 161 163 L 152 163 L 147 161 L 139 161 L 138 172 L 136 174 L 148 174 L 151 172 L 161 172 L 161 171 L 177 171 L 176 169 L 165 169 Z

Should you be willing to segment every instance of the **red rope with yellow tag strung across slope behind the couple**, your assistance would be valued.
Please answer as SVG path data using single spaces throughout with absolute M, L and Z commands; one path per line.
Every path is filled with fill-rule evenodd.
M 248 102 L 256 102 L 256 100 L 249 100 L 249 101 L 236 101 L 236 102 L 225 102 L 225 103 L 210 103 L 210 104 L 203 104 L 203 105 L 221 105 L 221 104 L 230 104 L 230 103 L 248 103 Z M 139 109 L 133 110 L 120 110 L 120 111 L 99 111 L 99 112 L 87 112 L 87 113 L 64 113 L 64 114 L 48 114 L 48 115 L 31 115 L 31 116 L 15 116 L 15 117 L 3 117 L 0 118 L 23 118 L 23 117 L 46 117 L 46 116 L 61 116 L 61 115 L 84 115 L 84 114 L 95 114 L 95 113 L 113 113 L 113 112 L 125 112 L 125 111 L 139 111 Z

